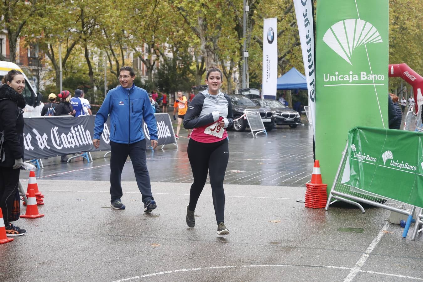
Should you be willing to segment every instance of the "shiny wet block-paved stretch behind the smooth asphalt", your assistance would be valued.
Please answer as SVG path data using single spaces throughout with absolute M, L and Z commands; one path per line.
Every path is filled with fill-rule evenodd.
M 257 138 L 246 132 L 229 131 L 229 163 L 225 184 L 304 186 L 313 170 L 313 131 L 308 126 L 291 129 L 278 126 L 268 135 Z M 163 150 L 147 151 L 147 167 L 151 181 L 192 183 L 187 156 L 187 130 L 181 129 L 178 148 L 166 145 Z M 128 159 L 130 160 L 130 159 Z M 49 165 L 36 172 L 37 178 L 66 180 L 108 180 L 110 155 L 92 163 L 71 162 Z M 81 170 L 58 174 L 72 170 Z M 48 176 L 50 175 L 50 176 Z M 22 174 L 22 179 L 26 176 Z M 132 165 L 127 163 L 122 180 L 135 181 Z

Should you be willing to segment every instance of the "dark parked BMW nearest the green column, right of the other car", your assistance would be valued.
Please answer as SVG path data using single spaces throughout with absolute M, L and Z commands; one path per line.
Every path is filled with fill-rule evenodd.
M 251 99 L 257 106 L 266 107 L 276 112 L 275 121 L 277 125 L 288 125 L 296 128 L 301 124 L 301 116 L 296 110 L 286 107 L 279 101 L 272 99 Z

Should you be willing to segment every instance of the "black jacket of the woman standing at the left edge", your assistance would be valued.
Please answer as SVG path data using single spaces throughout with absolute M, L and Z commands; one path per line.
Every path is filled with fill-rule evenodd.
M 0 166 L 13 167 L 24 156 L 25 98 L 7 84 L 0 86 Z

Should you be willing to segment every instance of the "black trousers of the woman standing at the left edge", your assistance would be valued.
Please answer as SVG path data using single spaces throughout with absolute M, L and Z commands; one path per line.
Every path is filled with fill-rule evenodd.
M 18 189 L 19 171 L 11 167 L 0 167 L 0 208 L 3 211 L 5 226 L 9 224 L 9 213 L 12 212 L 13 200 Z

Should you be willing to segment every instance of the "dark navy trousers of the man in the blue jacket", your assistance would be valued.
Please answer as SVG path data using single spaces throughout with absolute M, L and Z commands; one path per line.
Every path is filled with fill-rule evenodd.
M 121 144 L 110 141 L 110 202 L 122 197 L 121 175 L 128 156 L 131 158 L 138 189 L 143 203 L 154 200 L 151 194 L 150 175 L 147 170 L 146 140 L 132 144 Z

